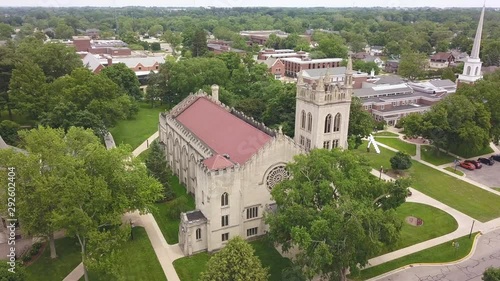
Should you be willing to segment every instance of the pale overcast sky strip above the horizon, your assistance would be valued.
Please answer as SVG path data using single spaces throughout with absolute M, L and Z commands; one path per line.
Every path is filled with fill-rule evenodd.
M 484 0 L 0 0 L 0 6 L 161 6 L 161 7 L 480 7 Z M 500 7 L 500 0 L 487 0 Z

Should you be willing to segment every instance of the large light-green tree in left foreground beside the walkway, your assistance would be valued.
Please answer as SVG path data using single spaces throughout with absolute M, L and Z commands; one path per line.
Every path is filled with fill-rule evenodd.
M 23 228 L 76 237 L 86 281 L 87 268 L 115 273 L 116 249 L 130 233 L 122 215 L 149 210 L 161 185 L 128 146 L 107 150 L 90 130 L 41 127 L 21 137 L 28 154 L 2 150 L 0 165 L 16 167 Z

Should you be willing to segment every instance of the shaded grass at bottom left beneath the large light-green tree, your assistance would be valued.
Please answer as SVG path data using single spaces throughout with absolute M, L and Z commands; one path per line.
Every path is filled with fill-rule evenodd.
M 82 261 L 80 244 L 74 238 L 57 239 L 56 252 L 58 257 L 51 259 L 47 245 L 42 256 L 26 267 L 26 280 L 63 280 Z

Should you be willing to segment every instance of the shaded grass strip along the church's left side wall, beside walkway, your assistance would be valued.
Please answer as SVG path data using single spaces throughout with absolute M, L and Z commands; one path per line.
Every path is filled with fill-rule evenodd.
M 173 175 L 169 179 L 170 186 L 172 186 L 172 189 L 175 193 L 175 197 L 186 197 L 188 199 L 188 206 L 190 209 L 194 210 L 195 208 L 195 202 L 194 198 L 186 193 L 186 188 L 182 186 L 179 183 L 179 179 Z M 176 244 L 179 242 L 179 237 L 178 237 L 178 232 L 179 232 L 179 223 L 180 223 L 180 217 L 178 216 L 175 219 L 171 219 L 167 216 L 168 209 L 172 205 L 172 201 L 168 202 L 163 202 L 163 203 L 157 203 L 156 204 L 156 210 L 152 212 L 156 223 L 158 223 L 158 226 L 160 227 L 161 232 L 163 233 L 163 236 L 165 237 L 165 240 L 169 244 Z

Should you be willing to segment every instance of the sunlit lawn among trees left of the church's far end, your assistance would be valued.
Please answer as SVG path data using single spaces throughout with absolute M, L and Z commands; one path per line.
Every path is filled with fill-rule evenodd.
M 158 130 L 159 113 L 165 109 L 166 106 L 151 108 L 150 104 L 140 103 L 134 119 L 122 120 L 109 130 L 116 145 L 129 144 L 132 149 L 138 147 Z

